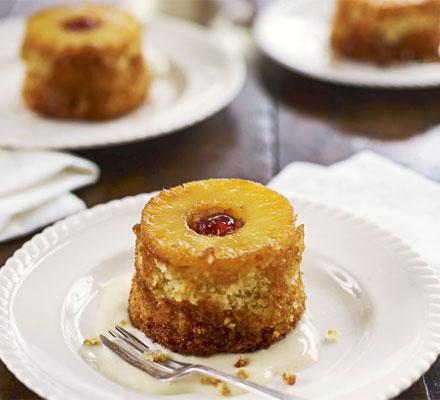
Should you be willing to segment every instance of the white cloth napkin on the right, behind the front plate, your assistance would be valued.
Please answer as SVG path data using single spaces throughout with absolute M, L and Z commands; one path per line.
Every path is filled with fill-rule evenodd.
M 370 151 L 324 167 L 294 162 L 269 183 L 349 210 L 402 238 L 440 274 L 440 185 Z

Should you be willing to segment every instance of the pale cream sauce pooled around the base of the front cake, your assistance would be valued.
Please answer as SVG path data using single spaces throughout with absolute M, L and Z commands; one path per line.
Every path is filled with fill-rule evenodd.
M 96 317 L 96 333 L 106 333 L 120 321 L 127 321 L 124 327 L 139 339 L 161 349 L 170 358 L 187 363 L 203 364 L 235 375 L 234 367 L 238 354 L 216 354 L 210 357 L 189 357 L 173 353 L 153 344 L 141 331 L 130 324 L 128 317 L 128 294 L 131 275 L 113 279 L 99 292 L 99 307 Z M 108 335 L 107 335 L 108 336 Z M 249 364 L 244 369 L 249 380 L 268 384 L 279 380 L 286 371 L 297 372 L 315 363 L 318 359 L 320 337 L 310 318 L 306 315 L 297 327 L 280 342 L 268 349 L 245 354 Z M 112 380 L 133 389 L 151 394 L 179 394 L 186 392 L 219 393 L 215 387 L 202 385 L 200 376 L 193 375 L 175 382 L 161 382 L 127 364 L 103 346 L 82 346 L 80 354 L 94 367 Z M 232 394 L 242 390 L 229 385 Z

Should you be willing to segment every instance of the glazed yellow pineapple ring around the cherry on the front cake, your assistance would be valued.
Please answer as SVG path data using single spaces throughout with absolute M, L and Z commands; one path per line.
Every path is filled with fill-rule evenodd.
M 243 226 L 226 236 L 195 232 L 204 211 L 224 210 Z M 206 216 L 206 215 L 205 215 Z M 295 241 L 289 201 L 266 186 L 240 179 L 210 179 L 163 190 L 142 212 L 140 235 L 146 247 L 172 265 L 201 266 L 279 250 Z

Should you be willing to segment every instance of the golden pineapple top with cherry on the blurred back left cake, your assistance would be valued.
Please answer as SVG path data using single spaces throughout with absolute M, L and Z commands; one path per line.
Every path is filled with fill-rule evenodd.
M 139 41 L 140 23 L 127 12 L 104 4 L 76 4 L 43 9 L 27 24 L 24 46 L 48 54 L 91 51 L 120 51 Z

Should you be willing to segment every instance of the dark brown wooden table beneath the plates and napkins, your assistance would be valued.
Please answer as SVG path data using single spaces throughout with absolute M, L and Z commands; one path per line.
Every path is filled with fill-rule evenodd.
M 371 149 L 440 182 L 440 89 L 341 87 L 260 56 L 223 111 L 172 135 L 76 151 L 102 176 L 77 191 L 88 206 L 182 182 L 238 177 L 267 183 L 292 161 L 329 165 Z M 31 236 L 0 245 L 0 265 Z M 0 364 L 0 399 L 38 399 Z M 440 362 L 398 399 L 440 399 Z

